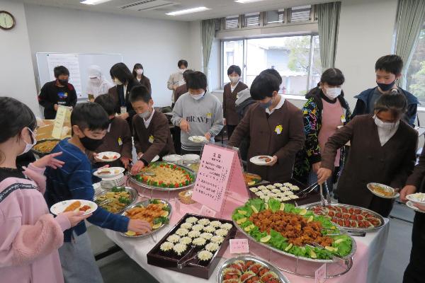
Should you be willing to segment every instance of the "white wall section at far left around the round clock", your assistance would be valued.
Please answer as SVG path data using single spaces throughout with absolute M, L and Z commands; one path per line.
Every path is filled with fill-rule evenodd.
M 0 0 L 0 10 L 8 11 L 16 20 L 12 30 L 0 30 L 0 96 L 21 100 L 40 116 L 24 6 Z

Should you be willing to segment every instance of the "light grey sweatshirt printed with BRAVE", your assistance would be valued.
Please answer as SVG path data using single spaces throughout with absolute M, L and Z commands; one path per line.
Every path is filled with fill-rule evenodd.
M 181 148 L 186 151 L 200 151 L 202 144 L 189 141 L 191 136 L 203 136 L 211 134 L 210 142 L 214 143 L 214 137 L 220 134 L 223 128 L 223 110 L 220 100 L 211 93 L 205 93 L 198 100 L 191 97 L 189 93 L 183 94 L 176 101 L 173 109 L 171 122 L 180 126 L 182 119 L 186 119 L 191 127 L 190 132 L 181 131 Z

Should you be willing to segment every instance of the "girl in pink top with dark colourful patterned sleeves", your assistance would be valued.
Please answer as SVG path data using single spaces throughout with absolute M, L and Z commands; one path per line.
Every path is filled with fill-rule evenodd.
M 317 170 L 322 159 L 321 152 L 329 137 L 338 127 L 351 118 L 350 108 L 341 89 L 344 75 L 336 68 L 323 72 L 316 88 L 307 93 L 307 102 L 302 107 L 304 132 L 306 136 L 304 149 L 298 152 L 294 168 L 294 178 L 302 183 L 312 185 L 317 182 Z M 329 191 L 336 183 L 339 168 L 344 164 L 344 148 L 339 149 L 335 157 L 335 179 L 327 182 Z

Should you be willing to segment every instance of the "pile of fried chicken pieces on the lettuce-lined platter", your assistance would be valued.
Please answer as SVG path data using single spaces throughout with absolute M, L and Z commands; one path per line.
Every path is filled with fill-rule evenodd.
M 329 236 L 322 236 L 322 224 L 320 222 L 308 222 L 305 217 L 300 215 L 283 211 L 272 212 L 270 209 L 266 209 L 252 214 L 249 220 L 259 227 L 261 232 L 270 233 L 273 229 L 283 237 L 288 238 L 288 242 L 295 246 L 304 246 L 307 243 L 331 246 L 333 242 Z

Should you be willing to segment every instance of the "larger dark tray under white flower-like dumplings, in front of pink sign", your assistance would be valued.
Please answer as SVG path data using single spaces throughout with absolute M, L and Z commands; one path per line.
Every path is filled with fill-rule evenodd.
M 179 229 L 180 225 L 183 224 L 186 221 L 186 219 L 191 216 L 195 216 L 199 219 L 203 219 L 203 218 L 209 219 L 210 221 L 218 220 L 222 223 L 232 224 L 233 227 L 232 229 L 230 229 L 229 233 L 227 233 L 227 236 L 225 237 L 225 241 L 223 241 L 220 248 L 215 252 L 215 254 L 212 256 L 212 259 L 208 262 L 208 264 L 202 264 L 198 261 L 197 258 L 194 258 L 193 260 L 188 262 L 188 264 L 185 267 L 183 267 L 183 269 L 179 269 L 177 267 L 177 262 L 181 258 L 183 258 L 183 256 L 186 254 L 183 254 L 181 256 L 176 256 L 170 253 L 163 253 L 161 250 L 159 250 L 159 247 L 162 245 L 162 243 L 166 241 L 166 238 L 168 238 L 177 229 Z M 236 231 L 237 231 L 236 227 L 234 226 L 233 222 L 230 220 L 219 219 L 215 217 L 207 217 L 207 216 L 202 216 L 198 214 L 189 214 L 189 213 L 185 214 L 185 216 L 183 216 L 183 218 L 176 224 L 176 226 L 174 226 L 173 229 L 171 229 L 168 233 L 166 233 L 164 238 L 162 238 L 161 241 L 159 241 L 159 243 L 157 243 L 157 245 L 154 246 L 154 248 L 152 248 L 152 250 L 150 250 L 149 253 L 147 253 L 147 263 L 149 263 L 149 265 L 155 265 L 158 267 L 166 268 L 167 270 L 173 270 L 173 271 L 181 272 L 187 275 L 209 279 L 212 273 L 214 272 L 215 267 L 217 267 L 218 263 L 220 262 L 220 258 L 222 258 L 222 255 L 224 255 L 225 250 L 227 249 L 227 246 L 229 246 L 229 239 L 234 238 L 234 236 L 236 235 Z M 196 252 L 197 251 L 194 250 L 190 256 L 195 255 Z

